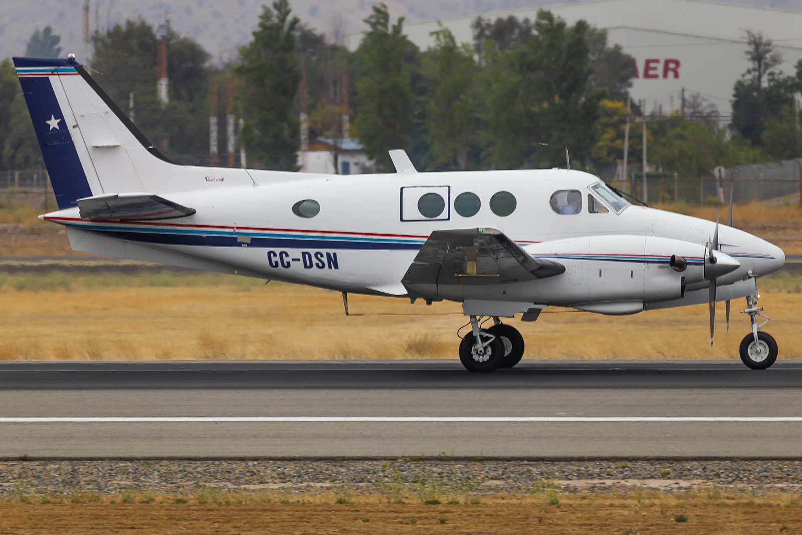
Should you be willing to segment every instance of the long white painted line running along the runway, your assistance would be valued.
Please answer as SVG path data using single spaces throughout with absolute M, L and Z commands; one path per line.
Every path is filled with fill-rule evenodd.
M 221 422 L 802 422 L 802 416 L 55 416 L 0 417 L 0 424 Z

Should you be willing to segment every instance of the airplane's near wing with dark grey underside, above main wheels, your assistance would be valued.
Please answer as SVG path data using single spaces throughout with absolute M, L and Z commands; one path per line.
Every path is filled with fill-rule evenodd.
M 534 258 L 500 230 L 435 230 L 401 279 L 410 297 L 437 298 L 437 286 L 525 282 L 565 273 Z

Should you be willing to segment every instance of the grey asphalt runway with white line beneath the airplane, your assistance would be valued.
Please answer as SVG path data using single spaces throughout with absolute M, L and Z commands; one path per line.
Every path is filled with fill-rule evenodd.
M 802 361 L 2 362 L 0 457 L 802 458 Z

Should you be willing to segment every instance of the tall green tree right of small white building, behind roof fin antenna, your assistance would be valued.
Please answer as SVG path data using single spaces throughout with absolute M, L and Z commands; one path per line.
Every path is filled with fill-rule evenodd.
M 412 127 L 414 102 L 404 53 L 414 45 L 402 33 L 403 17 L 390 26 L 390 12 L 383 2 L 373 6 L 373 14 L 365 22 L 371 30 L 359 43 L 363 73 L 355 84 L 358 106 L 354 126 L 379 171 L 392 172 L 387 151 L 407 148 Z

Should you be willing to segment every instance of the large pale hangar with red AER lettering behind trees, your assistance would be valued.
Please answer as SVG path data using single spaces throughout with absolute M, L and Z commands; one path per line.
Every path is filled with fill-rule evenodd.
M 731 113 L 732 87 L 749 64 L 744 55 L 747 32 L 763 32 L 772 39 L 784 62 L 779 67 L 788 75 L 796 72 L 802 59 L 802 12 L 764 7 L 739 6 L 707 0 L 596 0 L 546 6 L 569 24 L 584 18 L 605 28 L 608 44 L 620 44 L 636 59 L 637 77 L 631 94 L 646 100 L 646 111 L 663 113 L 679 107 L 681 92 L 700 93 L 719 108 L 723 119 Z M 537 8 L 499 11 L 484 18 L 534 20 Z M 472 42 L 471 23 L 476 17 L 441 19 L 458 43 Z M 409 39 L 418 47 L 430 47 L 430 33 L 437 21 L 404 25 Z M 350 50 L 358 47 L 362 34 L 346 35 Z

